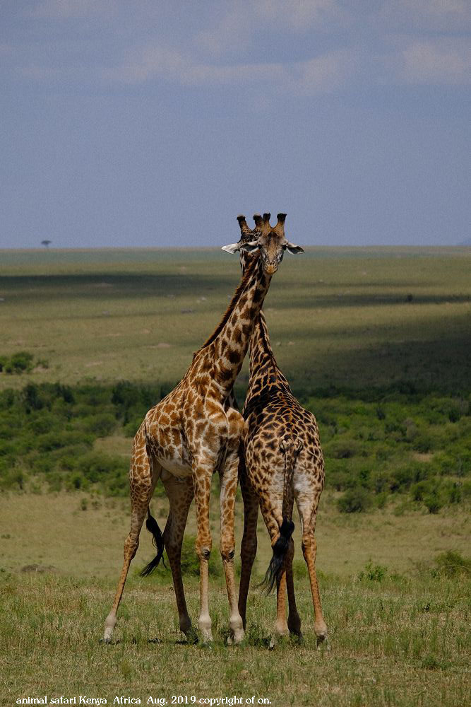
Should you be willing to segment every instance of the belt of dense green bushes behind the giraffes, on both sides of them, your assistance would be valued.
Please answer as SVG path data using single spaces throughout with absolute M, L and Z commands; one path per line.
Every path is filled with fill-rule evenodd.
M 18 468 L 63 488 L 80 483 L 127 495 L 129 460 L 116 462 L 111 455 L 97 461 L 93 443 L 114 433 L 133 437 L 145 412 L 166 392 L 162 385 L 126 381 L 73 387 L 30 383 L 21 391 L 0 391 L 2 487 L 11 482 L 18 488 L 10 474 Z M 421 397 L 397 386 L 361 392 L 328 388 L 309 397 L 307 406 L 318 415 L 326 485 L 345 494 L 339 501 L 345 512 L 382 508 L 390 493 L 410 492 L 407 508 L 421 503 L 431 513 L 470 503 L 471 417 L 464 396 Z M 434 452 L 429 460 L 417 460 L 415 452 L 427 450 Z M 432 480 L 436 488 L 420 485 Z M 162 484 L 155 493 L 165 493 Z

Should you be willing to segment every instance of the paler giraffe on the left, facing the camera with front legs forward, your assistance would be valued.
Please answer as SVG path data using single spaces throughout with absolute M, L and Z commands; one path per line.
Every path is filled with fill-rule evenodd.
M 225 246 L 225 250 L 259 251 L 244 271 L 242 280 L 222 317 L 177 387 L 145 415 L 133 440 L 129 471 L 131 529 L 124 543 L 124 563 L 112 609 L 105 621 L 105 643 L 112 640 L 117 611 L 131 560 L 136 554 L 145 515 L 157 555 L 143 570 L 146 575 L 159 563 L 164 547 L 172 571 L 179 626 L 189 641 L 191 626 L 181 579 L 181 544 L 193 497 L 196 503 L 196 554 L 200 561 L 200 613 L 198 628 L 203 643 L 213 640 L 208 605 L 208 561 L 212 548 L 209 526 L 210 484 L 220 474 L 220 553 L 229 600 L 229 643 L 244 637 L 234 580 L 234 504 L 237 491 L 239 443 L 244 421 L 232 405 L 232 387 L 254 329 L 254 322 L 278 269 L 285 238 L 275 234 L 261 243 Z M 287 243 L 287 242 L 286 242 Z M 169 515 L 162 534 L 150 513 L 155 484 L 162 479 L 169 499 Z

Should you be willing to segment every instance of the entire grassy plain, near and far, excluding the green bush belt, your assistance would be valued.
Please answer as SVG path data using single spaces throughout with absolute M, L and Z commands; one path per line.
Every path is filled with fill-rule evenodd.
M 469 248 L 316 248 L 304 257 L 287 256 L 273 279 L 266 315 L 294 390 L 318 406 L 322 391 L 333 385 L 355 390 L 360 401 L 374 387 L 404 386 L 466 401 L 470 264 Z M 0 252 L 0 355 L 26 350 L 49 362 L 28 374 L 0 374 L 0 390 L 44 381 L 173 385 L 213 331 L 238 277 L 235 257 L 209 250 Z M 244 377 L 246 368 L 241 396 Z M 462 429 L 466 419 L 460 419 Z M 331 421 L 325 424 L 332 428 Z M 447 424 L 453 431 L 455 423 Z M 328 446 L 334 442 L 329 438 Z M 126 457 L 129 439 L 108 436 L 95 440 L 95 449 Z M 342 464 L 337 453 L 335 463 Z M 410 453 L 425 463 L 434 452 Z M 275 603 L 254 589 L 246 644 L 226 648 L 220 576 L 211 579 L 214 648 L 181 643 L 169 574 L 162 569 L 150 580 L 136 576 L 153 554 L 143 532 L 117 626 L 119 642 L 105 647 L 98 639 L 121 566 L 127 502 L 95 492 L 1 493 L 0 697 L 13 705 L 42 694 L 108 702 L 115 695 L 139 696 L 143 703 L 149 695 L 170 703 L 172 695 L 237 694 L 277 707 L 461 707 L 469 696 L 470 577 L 466 570 L 439 573 L 435 560 L 448 550 L 469 552 L 469 515 L 459 504 L 439 515 L 407 504 L 338 513 L 338 495 L 332 488 L 323 494 L 318 518 L 331 650 L 316 652 L 298 529 L 304 645 L 286 641 L 268 650 Z M 165 520 L 165 499 L 156 498 L 153 507 Z M 238 501 L 237 542 L 241 522 Z M 259 531 L 256 578 L 270 555 L 266 531 Z M 32 571 L 35 564 L 49 570 Z M 186 585 L 194 621 L 198 585 L 191 577 Z M 148 642 L 156 636 L 160 643 Z

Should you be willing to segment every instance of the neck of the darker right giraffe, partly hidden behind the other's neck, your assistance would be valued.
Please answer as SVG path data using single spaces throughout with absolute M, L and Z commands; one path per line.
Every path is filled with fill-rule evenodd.
M 250 340 L 250 378 L 247 402 L 266 387 L 291 392 L 290 384 L 276 363 L 263 311 L 259 312 Z

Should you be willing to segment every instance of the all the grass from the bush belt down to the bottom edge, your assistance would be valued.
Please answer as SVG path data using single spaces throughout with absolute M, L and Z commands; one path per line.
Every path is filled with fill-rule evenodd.
M 84 505 L 81 501 L 86 500 Z M 249 594 L 246 643 L 227 648 L 227 599 L 210 578 L 211 650 L 181 643 L 169 571 L 147 580 L 153 556 L 143 531 L 115 631 L 99 643 L 129 524 L 123 500 L 77 493 L 0 496 L 0 675 L 6 704 L 20 696 L 172 695 L 266 697 L 287 704 L 405 707 L 466 703 L 469 658 L 470 518 L 444 513 L 339 516 L 327 494 L 318 519 L 318 574 L 331 650 L 316 651 L 309 585 L 295 532 L 294 575 L 304 645 L 267 648 L 275 598 Z M 153 502 L 160 521 L 166 501 Z M 237 503 L 237 537 L 242 505 Z M 217 559 L 217 500 L 211 512 Z M 189 532 L 194 532 L 191 510 Z M 259 528 L 254 584 L 270 547 Z M 453 553 L 447 552 L 453 548 Z M 220 561 L 219 561 L 220 562 Z M 28 566 L 49 573 L 25 571 Z M 23 571 L 22 571 L 23 570 Z M 198 583 L 185 577 L 198 616 Z M 158 638 L 160 643 L 149 643 Z M 287 686 L 290 686 L 287 689 Z

